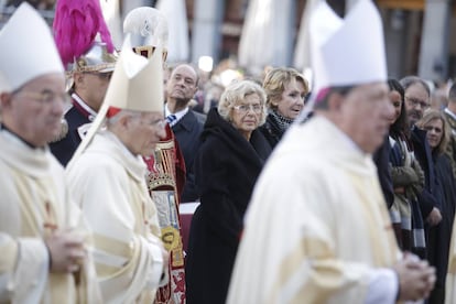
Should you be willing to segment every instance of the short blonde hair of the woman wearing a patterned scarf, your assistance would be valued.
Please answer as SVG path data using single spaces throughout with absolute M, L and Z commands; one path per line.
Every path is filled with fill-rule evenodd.
M 305 94 L 308 93 L 308 84 L 302 74 L 291 67 L 276 67 L 268 72 L 263 80 L 263 88 L 267 94 L 267 106 L 275 109 L 276 106 L 272 101 L 282 99 L 282 93 L 285 90 L 285 85 L 290 84 L 292 79 L 296 79 L 304 85 Z

